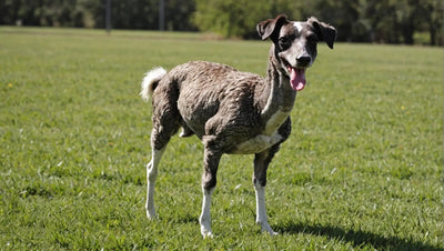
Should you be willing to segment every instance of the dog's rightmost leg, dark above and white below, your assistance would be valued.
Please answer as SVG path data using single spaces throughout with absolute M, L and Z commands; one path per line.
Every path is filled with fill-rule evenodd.
M 266 231 L 270 235 L 278 234 L 274 232 L 266 217 L 265 210 L 265 185 L 266 185 L 266 169 L 274 154 L 279 150 L 279 144 L 273 145 L 272 148 L 256 153 L 254 157 L 254 174 L 253 174 L 253 184 L 254 191 L 256 195 L 256 224 L 261 225 L 262 231 Z

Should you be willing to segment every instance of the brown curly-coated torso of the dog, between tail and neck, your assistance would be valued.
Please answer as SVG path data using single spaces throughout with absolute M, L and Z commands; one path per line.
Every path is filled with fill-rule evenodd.
M 175 113 L 175 120 L 180 120 L 175 123 L 199 138 L 218 134 L 228 130 L 226 127 L 232 137 L 243 138 L 260 126 L 256 93 L 262 91 L 263 81 L 256 74 L 225 64 L 188 62 L 173 68 L 159 81 L 153 91 L 153 111 Z M 171 118 L 170 123 L 173 123 Z

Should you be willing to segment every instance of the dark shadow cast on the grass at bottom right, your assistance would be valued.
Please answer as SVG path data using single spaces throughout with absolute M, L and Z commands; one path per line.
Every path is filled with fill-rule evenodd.
M 282 234 L 312 234 L 322 235 L 332 240 L 351 243 L 355 248 L 371 245 L 376 250 L 443 250 L 414 240 L 401 239 L 397 237 L 383 237 L 376 233 L 362 230 L 345 230 L 332 225 L 310 225 L 304 223 L 286 222 L 275 225 L 274 229 Z

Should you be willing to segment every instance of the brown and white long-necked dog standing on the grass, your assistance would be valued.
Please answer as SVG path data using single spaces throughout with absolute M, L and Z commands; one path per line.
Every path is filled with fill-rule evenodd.
M 203 238 L 211 231 L 211 197 L 222 154 L 255 154 L 253 185 L 256 223 L 263 232 L 276 234 L 265 211 L 266 170 L 291 132 L 290 112 L 296 93 L 306 84 L 305 71 L 316 58 L 316 44 L 333 49 L 334 27 L 312 17 L 305 22 L 280 14 L 260 22 L 262 40 L 273 42 L 266 77 L 241 72 L 232 67 L 191 61 L 167 72 L 157 68 L 142 81 L 141 97 L 152 99 L 151 161 L 147 164 L 147 217 L 155 218 L 154 184 L 158 165 L 170 138 L 195 134 L 204 145 L 202 213 Z

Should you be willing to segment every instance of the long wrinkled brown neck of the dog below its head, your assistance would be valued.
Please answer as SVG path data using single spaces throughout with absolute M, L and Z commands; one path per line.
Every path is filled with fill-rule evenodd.
M 291 88 L 290 78 L 281 67 L 274 44 L 270 49 L 269 57 L 265 83 L 260 101 L 263 121 L 269 121 L 279 111 L 290 113 L 296 99 L 296 91 Z

